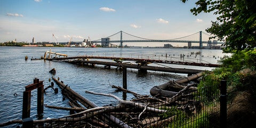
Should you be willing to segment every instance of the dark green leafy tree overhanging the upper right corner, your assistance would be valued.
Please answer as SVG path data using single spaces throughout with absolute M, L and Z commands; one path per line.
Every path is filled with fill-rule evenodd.
M 225 52 L 256 47 L 256 1 L 198 0 L 195 4 L 197 7 L 190 10 L 194 15 L 201 12 L 218 15 L 206 31 L 225 42 Z

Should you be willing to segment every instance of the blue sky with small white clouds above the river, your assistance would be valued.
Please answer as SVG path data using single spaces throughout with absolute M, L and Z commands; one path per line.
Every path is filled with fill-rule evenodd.
M 212 13 L 190 12 L 195 0 L 1 0 L 0 42 L 91 41 L 124 31 L 172 39 L 205 31 Z M 53 38 L 53 35 L 56 38 Z M 162 45 L 161 45 L 162 46 Z

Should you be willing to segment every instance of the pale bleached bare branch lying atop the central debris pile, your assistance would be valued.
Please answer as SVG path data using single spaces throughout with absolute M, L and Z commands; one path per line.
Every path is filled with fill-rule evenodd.
M 91 93 L 91 94 L 96 94 L 96 95 L 105 95 L 107 97 L 113 97 L 116 100 L 118 100 L 120 103 L 124 103 L 124 104 L 129 104 L 135 107 L 139 107 L 141 109 L 145 108 L 145 103 L 139 103 L 139 102 L 133 102 L 133 101 L 127 101 L 127 100 L 122 100 L 118 97 L 116 97 L 116 95 L 113 94 L 106 94 L 106 93 L 98 93 L 98 92 L 91 92 L 91 91 L 85 91 L 86 93 Z M 148 111 L 154 111 L 154 112 L 158 112 L 158 113 L 164 113 L 166 112 L 166 110 L 161 110 L 161 109 L 156 109 L 156 108 L 151 108 L 151 107 L 146 107 Z

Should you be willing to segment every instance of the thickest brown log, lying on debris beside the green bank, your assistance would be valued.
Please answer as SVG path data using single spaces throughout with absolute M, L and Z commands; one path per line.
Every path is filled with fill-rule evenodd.
M 178 79 L 177 81 L 174 81 L 175 83 L 187 83 L 189 81 L 192 81 L 196 78 L 199 78 L 203 75 L 203 71 L 200 72 L 200 73 L 197 73 L 197 74 L 194 74 L 194 75 L 191 75 L 191 76 L 188 76 L 188 77 L 185 77 L 185 78 L 182 78 L 182 79 Z M 174 92 L 174 91 L 166 91 L 166 89 L 171 86 L 173 84 L 172 81 L 169 81 L 165 84 L 162 84 L 162 85 L 159 85 L 159 86 L 154 86 L 150 89 L 150 94 L 153 95 L 153 96 L 158 96 L 158 95 L 161 95 L 163 97 L 171 97 L 172 95 L 174 94 L 177 94 L 177 92 Z M 178 86 L 176 86 L 178 87 Z M 179 87 L 182 87 L 181 85 L 179 85 Z M 185 87 L 185 86 L 184 86 Z M 195 87 L 192 87 L 191 90 L 195 90 L 196 88 Z

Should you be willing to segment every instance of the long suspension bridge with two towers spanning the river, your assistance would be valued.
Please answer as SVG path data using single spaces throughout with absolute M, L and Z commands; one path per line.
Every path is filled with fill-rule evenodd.
M 188 36 L 183 36 L 179 38 L 173 39 L 149 39 L 143 38 L 139 36 L 134 36 L 129 33 L 125 33 L 124 31 L 118 31 L 113 35 L 107 36 L 105 38 L 97 39 L 91 41 L 92 43 L 101 43 L 101 44 L 109 44 L 109 43 L 120 43 L 120 46 L 123 47 L 123 43 L 131 43 L 131 42 L 153 42 L 153 43 L 161 43 L 161 42 L 174 42 L 174 43 L 188 43 L 188 46 L 191 46 L 191 43 L 198 43 L 199 47 L 202 48 L 203 44 L 217 45 L 223 44 L 223 42 L 217 42 L 217 40 L 210 40 L 209 37 L 212 35 L 204 33 L 203 31 L 198 31 L 195 34 L 191 34 Z

